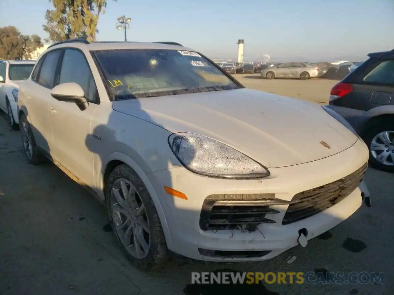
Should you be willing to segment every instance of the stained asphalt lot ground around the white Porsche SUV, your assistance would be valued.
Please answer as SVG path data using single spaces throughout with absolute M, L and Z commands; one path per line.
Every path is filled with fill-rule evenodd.
M 235 75 L 245 86 L 327 102 L 336 81 L 263 80 Z M 0 116 L 0 294 L 389 295 L 394 284 L 394 175 L 368 169 L 372 208 L 321 237 L 264 263 L 203 264 L 172 260 L 160 273 L 132 267 L 108 230 L 106 210 L 52 164 L 32 166 L 19 131 Z M 346 243 L 345 243 L 346 242 Z M 284 260 L 296 256 L 292 264 Z M 191 286 L 192 271 L 384 272 L 384 284 L 257 284 Z

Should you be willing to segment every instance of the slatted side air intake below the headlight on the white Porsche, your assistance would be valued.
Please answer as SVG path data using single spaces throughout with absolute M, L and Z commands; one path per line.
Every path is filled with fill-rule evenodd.
M 281 205 L 274 194 L 210 195 L 203 204 L 200 216 L 202 230 L 255 230 L 260 223 L 275 223 L 266 214 L 279 213 L 269 208 Z

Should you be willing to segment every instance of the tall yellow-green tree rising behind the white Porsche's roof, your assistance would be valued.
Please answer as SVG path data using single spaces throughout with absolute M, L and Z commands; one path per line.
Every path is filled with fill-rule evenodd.
M 63 41 L 72 38 L 96 40 L 97 24 L 105 13 L 106 0 L 49 0 L 54 9 L 47 10 L 44 30 L 46 41 Z M 116 1 L 116 0 L 115 0 Z

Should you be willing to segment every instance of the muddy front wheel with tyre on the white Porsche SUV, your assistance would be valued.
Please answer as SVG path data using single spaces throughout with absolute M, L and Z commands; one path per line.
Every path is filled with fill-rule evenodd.
M 167 244 L 160 218 L 145 184 L 126 164 L 110 174 L 106 205 L 113 232 L 132 264 L 155 270 L 167 261 Z

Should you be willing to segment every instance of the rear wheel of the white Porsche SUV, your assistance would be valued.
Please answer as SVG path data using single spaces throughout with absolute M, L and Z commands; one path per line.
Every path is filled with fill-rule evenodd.
M 32 128 L 30 127 L 25 114 L 20 116 L 19 128 L 22 135 L 23 151 L 26 158 L 31 164 L 40 164 L 45 158 L 41 155 L 37 145 L 35 144 Z

